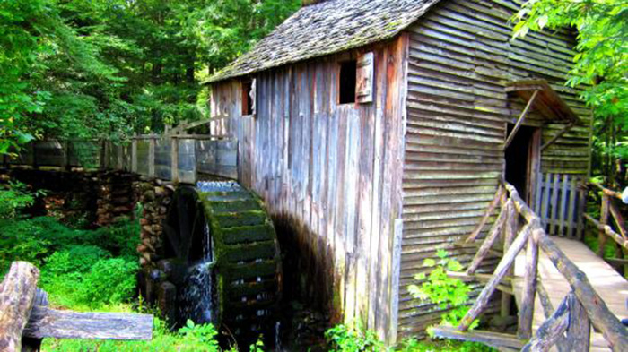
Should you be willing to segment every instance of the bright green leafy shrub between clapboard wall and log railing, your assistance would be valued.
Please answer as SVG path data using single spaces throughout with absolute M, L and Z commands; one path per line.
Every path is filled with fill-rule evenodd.
M 423 262 L 424 266 L 432 268 L 428 276 L 424 273 L 414 276 L 414 279 L 422 281 L 421 286 L 410 285 L 408 291 L 414 298 L 432 302 L 439 305 L 440 309 L 449 309 L 442 315 L 440 324 L 457 326 L 469 309 L 467 303 L 471 288 L 462 280 L 447 275 L 447 271 L 462 270 L 462 265 L 458 261 L 448 258 L 448 253 L 443 250 L 439 250 L 436 255 L 439 262 L 430 258 Z M 477 321 L 473 322 L 471 329 L 477 324 Z

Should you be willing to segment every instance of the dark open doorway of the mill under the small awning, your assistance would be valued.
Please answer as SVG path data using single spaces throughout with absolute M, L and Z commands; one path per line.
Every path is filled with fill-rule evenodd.
M 513 124 L 508 125 L 510 135 Z M 529 203 L 538 172 L 540 129 L 521 126 L 506 150 L 506 181 L 514 185 L 521 198 Z

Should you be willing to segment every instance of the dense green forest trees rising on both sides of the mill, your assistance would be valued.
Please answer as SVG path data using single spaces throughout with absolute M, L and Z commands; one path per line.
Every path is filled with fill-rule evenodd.
M 33 138 L 160 132 L 207 116 L 200 82 L 301 0 L 0 0 L 0 154 Z M 626 185 L 628 1 L 532 0 L 528 30 L 578 30 L 566 84 L 596 114 L 594 176 Z

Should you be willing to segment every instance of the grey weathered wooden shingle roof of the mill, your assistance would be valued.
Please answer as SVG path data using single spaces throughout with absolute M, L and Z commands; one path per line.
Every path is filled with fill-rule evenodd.
M 395 37 L 440 0 L 327 0 L 302 7 L 208 82 Z

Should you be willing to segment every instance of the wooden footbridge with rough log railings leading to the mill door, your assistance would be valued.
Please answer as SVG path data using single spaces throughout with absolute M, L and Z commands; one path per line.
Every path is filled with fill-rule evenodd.
M 585 216 L 599 228 L 599 243 L 610 237 L 627 249 L 623 221 L 610 202 L 618 194 L 602 189 L 602 219 Z M 484 342 L 500 350 L 525 351 L 628 351 L 628 281 L 597 253 L 579 240 L 548 236 L 543 220 L 508 183 L 495 195 L 489 210 L 467 243 L 478 241 L 486 220 L 501 202 L 502 210 L 462 275 L 486 282 L 462 322 L 455 328 L 437 327 L 437 336 Z M 621 234 L 609 225 L 609 213 Z M 484 257 L 502 236 L 504 253 L 493 275 L 476 273 Z M 496 289 L 502 300 L 514 295 L 518 314 L 517 334 L 469 331 L 469 326 L 489 307 Z M 503 307 L 504 305 L 502 305 Z

